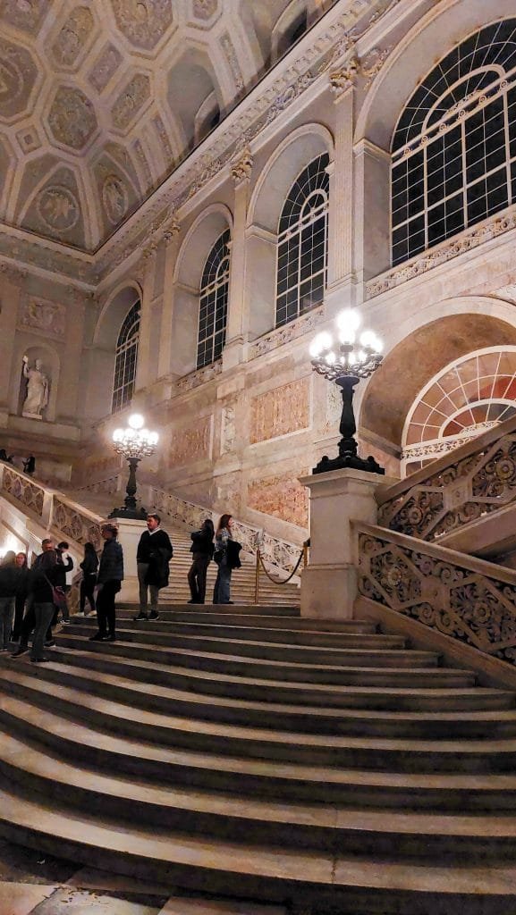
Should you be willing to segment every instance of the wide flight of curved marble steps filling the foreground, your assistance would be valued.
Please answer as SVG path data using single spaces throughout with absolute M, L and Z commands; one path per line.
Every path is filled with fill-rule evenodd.
M 513 915 L 510 691 L 359 619 L 134 612 L 0 656 L 0 834 L 310 915 Z

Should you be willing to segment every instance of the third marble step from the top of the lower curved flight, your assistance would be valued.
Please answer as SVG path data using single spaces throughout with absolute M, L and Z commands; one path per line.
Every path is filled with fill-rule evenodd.
M 159 622 L 158 624 L 159 625 Z M 170 651 L 184 649 L 188 651 L 207 651 L 219 654 L 236 653 L 242 658 L 266 658 L 269 661 L 278 662 L 304 662 L 318 665 L 338 664 L 338 665 L 360 665 L 376 666 L 377 664 L 384 667 L 432 667 L 436 666 L 439 656 L 434 651 L 410 651 L 399 649 L 382 649 L 374 648 L 324 648 L 313 645 L 295 645 L 289 642 L 276 642 L 264 640 L 247 641 L 241 639 L 229 639 L 223 636 L 194 636 L 184 635 L 166 630 L 160 632 L 150 629 L 151 623 L 145 621 L 134 623 L 132 621 L 122 621 L 122 628 L 118 630 L 117 635 L 120 641 L 137 642 L 140 645 L 155 645 L 168 648 Z M 93 618 L 82 619 L 80 622 L 71 623 L 71 635 L 82 635 L 89 637 L 95 630 Z M 345 639 L 346 636 L 339 636 L 339 639 Z M 352 637 L 349 637 L 352 638 Z M 374 640 L 376 636 L 360 636 L 359 639 Z M 378 637 L 389 638 L 389 637 Z M 397 637 L 395 637 L 397 638 Z M 403 643 L 403 640 L 401 640 Z

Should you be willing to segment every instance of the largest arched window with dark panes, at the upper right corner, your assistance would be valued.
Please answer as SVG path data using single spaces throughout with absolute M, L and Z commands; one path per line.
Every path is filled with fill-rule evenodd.
M 482 28 L 412 94 L 392 143 L 392 263 L 516 200 L 516 19 Z

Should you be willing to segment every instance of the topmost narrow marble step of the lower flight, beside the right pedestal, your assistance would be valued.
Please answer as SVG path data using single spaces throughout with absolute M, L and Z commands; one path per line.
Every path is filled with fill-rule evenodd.
M 197 605 L 199 606 L 199 605 Z M 208 605 L 203 605 L 207 609 L 201 612 L 195 611 L 170 610 L 163 609 L 159 605 L 159 619 L 161 621 L 173 623 L 203 623 L 209 626 L 244 626 L 253 627 L 254 629 L 288 629 L 299 630 L 303 632 L 349 632 L 364 633 L 366 635 L 375 634 L 378 629 L 375 623 L 367 622 L 360 619 L 310 619 L 307 617 L 273 617 L 261 616 L 257 614 L 243 613 L 219 613 L 215 607 L 213 610 Z M 234 608 L 231 608 L 234 609 Z M 137 615 L 137 608 L 132 610 L 123 608 L 116 612 L 116 619 L 134 619 Z M 80 614 L 75 615 L 77 619 L 82 619 Z M 75 619 L 75 617 L 73 617 Z

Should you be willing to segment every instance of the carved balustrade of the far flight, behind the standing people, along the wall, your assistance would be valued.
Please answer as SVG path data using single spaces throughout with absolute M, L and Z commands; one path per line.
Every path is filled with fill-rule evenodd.
M 156 511 L 168 515 L 172 521 L 191 530 L 200 527 L 204 518 L 211 518 L 215 525 L 218 521 L 220 512 L 204 509 L 201 505 L 187 502 L 173 493 L 150 487 L 149 494 Z M 250 524 L 235 520 L 233 533 L 246 553 L 256 554 L 259 547 L 264 562 L 284 572 L 291 572 L 299 559 L 300 546 L 272 537 Z

